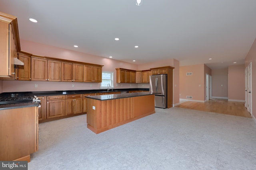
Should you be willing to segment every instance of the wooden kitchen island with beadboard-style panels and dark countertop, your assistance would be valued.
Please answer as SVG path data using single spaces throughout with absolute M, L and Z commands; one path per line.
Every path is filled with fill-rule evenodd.
M 155 113 L 155 93 L 87 96 L 87 128 L 98 134 Z

